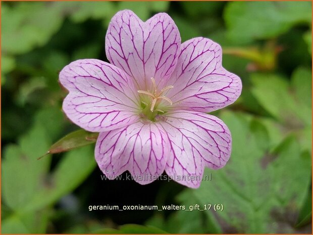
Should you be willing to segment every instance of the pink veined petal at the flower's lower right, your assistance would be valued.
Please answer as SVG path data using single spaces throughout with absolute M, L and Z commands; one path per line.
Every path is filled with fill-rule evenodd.
M 171 147 L 165 171 L 183 185 L 198 187 L 204 166 L 221 168 L 230 157 L 230 131 L 215 116 L 179 110 L 168 113 L 162 126 Z

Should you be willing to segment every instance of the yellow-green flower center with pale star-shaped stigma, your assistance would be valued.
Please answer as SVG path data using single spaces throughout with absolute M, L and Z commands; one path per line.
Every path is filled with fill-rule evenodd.
M 173 102 L 163 96 L 163 93 L 169 89 L 172 89 L 174 86 L 166 86 L 162 90 L 158 91 L 158 88 L 156 87 L 155 80 L 153 77 L 151 77 L 152 81 L 152 92 L 150 90 L 137 90 L 140 96 L 140 107 L 141 107 L 141 118 L 145 120 L 150 120 L 152 122 L 159 121 L 162 119 L 162 115 L 166 113 L 166 110 L 163 109 L 161 106 L 162 100 L 167 101 L 170 105 L 173 104 Z

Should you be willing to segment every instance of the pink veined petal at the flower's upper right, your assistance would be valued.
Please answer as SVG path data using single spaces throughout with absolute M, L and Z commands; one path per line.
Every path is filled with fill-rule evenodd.
M 221 46 L 197 37 L 181 45 L 177 66 L 166 95 L 178 109 L 212 112 L 234 103 L 241 93 L 240 78 L 222 67 Z

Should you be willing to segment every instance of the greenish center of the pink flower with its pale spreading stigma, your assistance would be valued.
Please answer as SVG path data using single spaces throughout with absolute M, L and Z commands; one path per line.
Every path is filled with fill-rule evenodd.
M 173 104 L 173 102 L 169 98 L 163 96 L 163 93 L 169 89 L 172 89 L 174 86 L 172 85 L 166 86 L 162 90 L 158 91 L 158 88 L 156 87 L 155 80 L 153 77 L 151 77 L 151 81 L 153 89 L 152 92 L 150 92 L 150 90 L 137 90 L 137 91 L 138 93 L 146 95 L 149 98 L 149 101 L 147 100 L 141 101 L 141 103 L 143 104 L 142 107 L 143 114 L 146 118 L 150 119 L 151 121 L 154 121 L 153 119 L 156 116 L 156 114 L 158 114 L 158 112 L 164 113 L 163 110 L 158 108 L 162 100 L 167 101 L 170 105 Z

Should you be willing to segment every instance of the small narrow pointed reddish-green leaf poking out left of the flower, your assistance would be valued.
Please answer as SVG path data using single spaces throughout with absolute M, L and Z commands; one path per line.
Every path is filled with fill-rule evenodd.
M 92 133 L 85 130 L 73 131 L 58 142 L 53 144 L 49 150 L 49 154 L 67 152 L 72 149 L 83 147 L 95 143 L 99 133 Z

